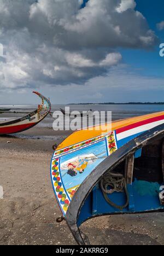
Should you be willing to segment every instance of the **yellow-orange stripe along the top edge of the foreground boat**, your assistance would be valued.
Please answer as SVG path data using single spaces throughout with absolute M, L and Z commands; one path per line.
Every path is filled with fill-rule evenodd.
M 112 131 L 119 129 L 121 127 L 125 127 L 127 125 L 135 124 L 138 123 L 139 121 L 144 121 L 150 118 L 154 117 L 160 117 L 161 115 L 164 115 L 164 112 L 158 112 L 158 113 L 153 113 L 153 114 L 148 114 L 148 115 L 142 115 L 141 117 L 134 117 L 134 118 L 128 118 L 124 120 L 119 120 L 115 121 L 112 123 Z M 107 132 L 110 132 L 111 130 L 107 130 Z M 73 144 L 77 144 L 83 141 L 87 141 L 88 139 L 101 136 L 104 134 L 101 130 L 80 130 L 80 131 L 75 131 L 72 133 L 71 136 L 65 139 L 56 150 L 61 150 L 63 148 L 67 148 Z

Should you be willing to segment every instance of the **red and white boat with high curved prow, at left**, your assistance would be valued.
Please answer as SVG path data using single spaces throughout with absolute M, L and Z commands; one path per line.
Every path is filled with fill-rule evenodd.
M 39 94 L 39 92 L 34 91 L 33 93 L 41 98 L 42 104 L 30 114 L 25 115 L 25 117 L 0 123 L 0 135 L 8 135 L 28 130 L 37 125 L 50 113 L 50 101 L 42 94 Z

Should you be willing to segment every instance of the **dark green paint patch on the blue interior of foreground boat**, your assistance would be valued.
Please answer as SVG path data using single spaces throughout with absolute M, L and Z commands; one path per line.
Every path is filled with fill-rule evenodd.
M 160 191 L 160 184 L 157 182 L 137 181 L 136 179 L 133 186 L 140 196 L 157 196 Z

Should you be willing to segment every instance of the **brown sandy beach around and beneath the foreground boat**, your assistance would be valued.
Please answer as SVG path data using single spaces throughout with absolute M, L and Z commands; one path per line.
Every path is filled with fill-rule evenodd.
M 34 127 L 0 137 L 0 245 L 75 245 L 50 181 L 52 145 L 70 132 Z M 43 137 L 45 136 L 45 137 Z M 10 142 L 10 143 L 7 143 Z M 164 245 L 164 213 L 100 217 L 83 224 L 92 245 Z

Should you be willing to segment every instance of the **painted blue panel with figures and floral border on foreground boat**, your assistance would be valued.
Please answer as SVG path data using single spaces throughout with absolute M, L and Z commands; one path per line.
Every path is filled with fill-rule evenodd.
M 116 149 L 113 131 L 54 153 L 51 162 L 51 179 L 57 201 L 64 215 L 81 183 Z

